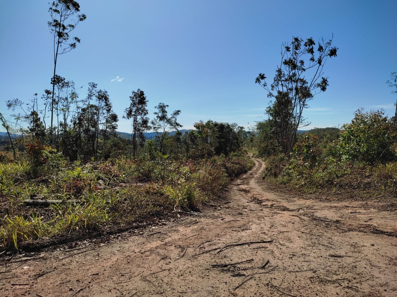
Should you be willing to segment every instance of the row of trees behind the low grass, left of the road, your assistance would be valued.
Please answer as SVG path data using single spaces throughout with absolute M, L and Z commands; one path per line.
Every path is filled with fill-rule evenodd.
M 80 13 L 80 5 L 74 0 L 57 0 L 49 5 L 48 27 L 54 49 L 52 88 L 46 89 L 40 98 L 36 93 L 29 101 L 12 99 L 6 102 L 13 112 L 14 127 L 19 128 L 12 129 L 10 122 L 0 114 L 14 158 L 16 150 L 32 152 L 44 147 L 54 148 L 70 160 L 107 159 L 123 153 L 129 154 L 130 158 L 142 154 L 154 158 L 157 153 L 174 158 L 202 158 L 228 155 L 241 147 L 246 132 L 237 124 L 200 121 L 195 124 L 197 130 L 184 135 L 178 131 L 170 136 L 171 131 L 182 127 L 177 122 L 181 110 L 169 113 L 169 106 L 159 103 L 155 107 L 154 118 L 150 120 L 148 100 L 141 89 L 131 93 L 130 105 L 123 115 L 123 118 L 131 120 L 131 141 L 118 137 L 118 115 L 113 110 L 108 92 L 91 82 L 87 96 L 80 99 L 74 82 L 56 71 L 60 56 L 81 42 L 71 33 L 87 16 Z M 150 129 L 157 135 L 154 140 L 146 141 L 144 133 Z M 20 136 L 13 139 L 12 133 Z

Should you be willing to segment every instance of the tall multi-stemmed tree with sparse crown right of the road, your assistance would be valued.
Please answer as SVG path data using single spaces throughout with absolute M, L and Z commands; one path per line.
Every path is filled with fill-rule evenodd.
M 320 91 L 326 91 L 328 78 L 323 68 L 328 57 L 336 57 L 338 48 L 330 40 L 313 38 L 303 40 L 293 37 L 290 43 L 281 46 L 281 63 L 269 85 L 266 76 L 260 73 L 255 83 L 260 84 L 274 103 L 266 110 L 272 120 L 277 140 L 282 151 L 289 155 L 296 141 L 297 129 L 303 122 L 302 112 Z M 316 49 L 315 49 L 316 46 Z M 304 61 L 305 58 L 308 61 Z

